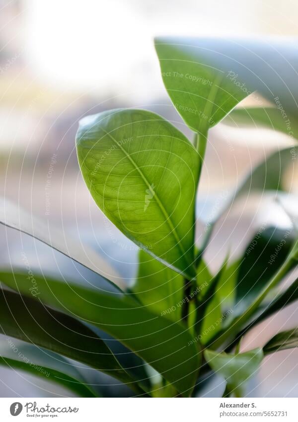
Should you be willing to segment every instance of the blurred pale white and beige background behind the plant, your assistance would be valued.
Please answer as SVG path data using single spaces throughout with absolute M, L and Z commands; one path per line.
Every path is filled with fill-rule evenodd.
M 0 0 L 0 194 L 48 227 L 57 227 L 63 236 L 71 233 L 89 244 L 132 282 L 137 248 L 104 219 L 82 181 L 74 148 L 78 120 L 109 108 L 140 107 L 179 122 L 191 136 L 163 87 L 153 37 L 298 36 L 297 22 L 294 0 Z M 253 104 L 253 98 L 246 103 Z M 203 221 L 215 197 L 269 153 L 292 145 L 278 132 L 224 125 L 210 131 L 209 141 L 198 199 L 204 204 Z M 292 175 L 289 183 L 297 192 L 298 177 Z M 232 256 L 240 254 L 258 226 L 277 219 L 281 226 L 289 223 L 269 199 L 239 203 L 213 238 L 211 267 L 221 263 L 231 245 Z M 198 222 L 198 236 L 200 227 Z M 35 271 L 48 268 L 78 282 L 92 278 L 80 265 L 28 236 L 2 226 L 0 234 L 1 265 L 23 265 L 25 251 Z M 267 321 L 261 332 L 258 329 L 259 337 L 264 342 L 297 322 L 293 305 L 278 320 Z M 0 337 L 2 341 L 5 336 Z M 252 334 L 246 347 L 258 345 L 259 337 Z M 7 347 L 5 341 L 0 347 Z M 68 394 L 0 368 L 1 397 Z M 127 394 L 125 388 L 121 394 Z M 204 394 L 218 393 L 211 385 Z M 298 350 L 266 358 L 249 395 L 297 396 Z

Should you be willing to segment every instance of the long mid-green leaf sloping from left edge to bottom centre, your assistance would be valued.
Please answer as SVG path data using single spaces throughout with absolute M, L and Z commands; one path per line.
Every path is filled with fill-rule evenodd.
M 29 292 L 31 283 L 25 273 L 1 273 L 0 280 L 22 294 Z M 127 295 L 106 295 L 98 290 L 43 278 L 36 280 L 36 285 L 39 300 L 119 339 L 183 395 L 191 393 L 201 354 L 195 345 L 188 345 L 192 338 L 184 327 L 156 316 Z

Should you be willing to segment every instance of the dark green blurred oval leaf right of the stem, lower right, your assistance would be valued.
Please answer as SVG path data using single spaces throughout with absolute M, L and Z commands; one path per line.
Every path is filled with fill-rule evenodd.
M 245 248 L 236 284 L 237 307 L 245 309 L 284 263 L 293 247 L 289 230 L 262 227 Z

